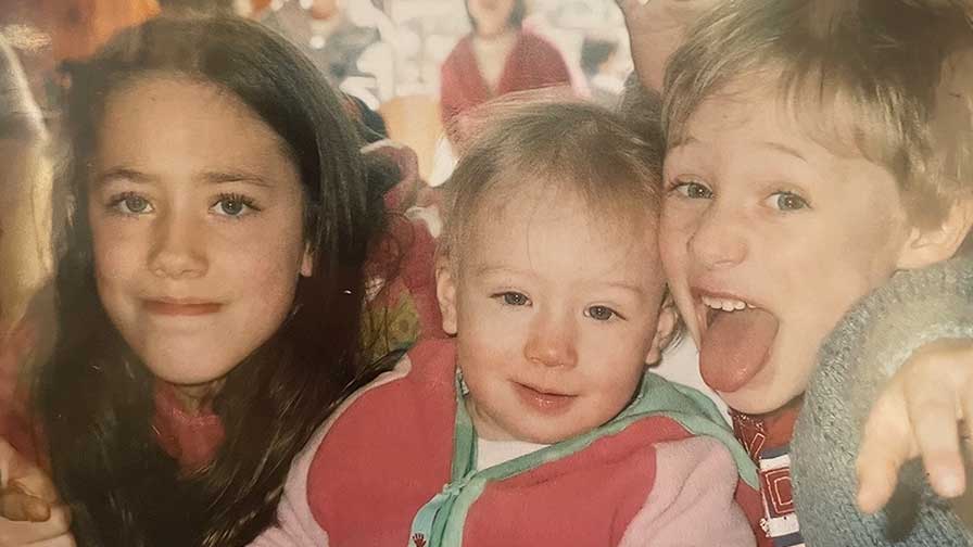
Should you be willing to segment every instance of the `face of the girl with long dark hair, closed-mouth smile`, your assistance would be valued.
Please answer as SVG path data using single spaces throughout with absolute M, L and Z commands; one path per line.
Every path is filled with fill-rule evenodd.
M 98 135 L 101 302 L 153 374 L 205 386 L 270 338 L 311 275 L 298 169 L 236 97 L 178 76 L 115 90 Z

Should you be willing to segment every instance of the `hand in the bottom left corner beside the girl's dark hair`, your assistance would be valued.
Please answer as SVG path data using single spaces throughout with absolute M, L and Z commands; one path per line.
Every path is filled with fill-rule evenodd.
M 74 547 L 71 514 L 47 474 L 0 440 L 0 547 Z

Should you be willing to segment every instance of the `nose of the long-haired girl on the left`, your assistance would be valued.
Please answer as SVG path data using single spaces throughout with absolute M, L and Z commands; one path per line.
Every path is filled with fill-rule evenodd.
M 156 277 L 180 279 L 206 272 L 204 233 L 182 215 L 161 215 L 152 226 L 149 270 Z

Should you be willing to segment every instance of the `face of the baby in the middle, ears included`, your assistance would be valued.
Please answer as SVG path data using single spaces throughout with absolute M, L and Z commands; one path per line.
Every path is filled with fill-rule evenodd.
M 478 434 L 549 444 L 631 400 L 657 357 L 664 280 L 650 215 L 623 222 L 532 186 L 484 200 L 439 292 Z

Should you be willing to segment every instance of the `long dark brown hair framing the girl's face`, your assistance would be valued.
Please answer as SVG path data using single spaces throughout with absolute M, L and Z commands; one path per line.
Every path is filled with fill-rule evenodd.
M 98 297 L 87 168 L 113 89 L 149 74 L 218 86 L 287 143 L 304 193 L 314 275 L 290 317 L 240 362 L 213 402 L 226 440 L 215 460 L 180 475 L 152 430 L 154 378 Z M 60 338 L 36 386 L 55 484 L 84 546 L 236 546 L 274 521 L 291 459 L 356 383 L 363 264 L 380 230 L 358 140 L 341 102 L 282 38 L 239 18 L 156 18 L 68 71 L 58 244 Z M 231 343 L 232 341 L 228 341 Z

